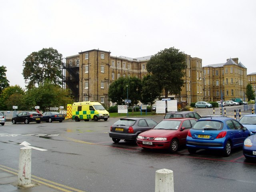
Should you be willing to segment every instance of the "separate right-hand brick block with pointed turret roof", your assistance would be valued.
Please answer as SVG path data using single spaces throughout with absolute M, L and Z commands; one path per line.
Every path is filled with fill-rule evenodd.
M 219 101 L 232 98 L 244 99 L 247 81 L 247 68 L 238 62 L 238 58 L 227 59 L 221 64 L 204 66 L 205 101 Z

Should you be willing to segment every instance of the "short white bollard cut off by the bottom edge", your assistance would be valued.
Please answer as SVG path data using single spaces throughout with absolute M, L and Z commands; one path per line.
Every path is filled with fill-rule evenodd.
M 174 192 L 172 170 L 160 169 L 156 171 L 155 192 Z

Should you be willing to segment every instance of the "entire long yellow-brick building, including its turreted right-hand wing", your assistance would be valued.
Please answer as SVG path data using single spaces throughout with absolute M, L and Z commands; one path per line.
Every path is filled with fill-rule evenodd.
M 146 64 L 151 56 L 128 58 L 111 56 L 111 52 L 88 50 L 66 57 L 64 82 L 72 90 L 75 101 L 108 102 L 108 87 L 119 77 L 136 76 L 143 78 L 148 72 Z M 246 68 L 238 63 L 238 58 L 229 59 L 224 64 L 202 67 L 202 59 L 186 55 L 184 87 L 180 95 L 169 95 L 188 104 L 197 101 L 218 101 L 221 90 L 224 100 L 242 97 L 247 85 Z

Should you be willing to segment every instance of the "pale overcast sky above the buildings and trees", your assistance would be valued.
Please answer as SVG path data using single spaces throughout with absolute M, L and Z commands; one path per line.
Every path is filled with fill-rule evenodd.
M 255 10 L 255 0 L 0 0 L 0 66 L 25 88 L 22 63 L 42 48 L 137 58 L 175 47 L 203 66 L 239 58 L 250 74 Z

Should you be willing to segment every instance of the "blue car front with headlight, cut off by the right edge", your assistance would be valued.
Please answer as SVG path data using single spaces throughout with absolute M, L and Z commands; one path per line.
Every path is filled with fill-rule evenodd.
M 256 160 L 256 132 L 244 140 L 243 154 L 246 159 Z

